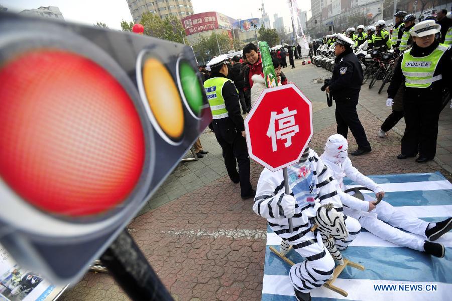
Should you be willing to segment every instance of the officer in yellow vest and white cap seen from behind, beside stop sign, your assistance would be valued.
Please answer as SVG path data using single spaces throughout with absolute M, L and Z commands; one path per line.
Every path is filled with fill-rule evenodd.
M 204 89 L 212 111 L 212 126 L 216 140 L 221 146 L 224 165 L 234 183 L 240 182 L 243 199 L 254 197 L 256 191 L 250 183 L 250 156 L 245 140 L 245 126 L 240 114 L 239 92 L 228 79 L 227 55 L 213 58 L 207 67 L 211 76 L 204 82 Z M 237 163 L 239 172 L 237 172 Z

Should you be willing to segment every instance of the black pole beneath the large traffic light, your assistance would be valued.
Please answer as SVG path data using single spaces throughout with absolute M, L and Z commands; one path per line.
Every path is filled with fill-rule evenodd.
M 173 300 L 127 230 L 121 232 L 100 261 L 134 301 Z

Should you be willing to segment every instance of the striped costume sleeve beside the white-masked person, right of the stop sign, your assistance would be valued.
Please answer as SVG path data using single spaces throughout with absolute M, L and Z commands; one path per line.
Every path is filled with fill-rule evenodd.
M 317 188 L 318 191 L 318 199 L 320 204 L 328 204 L 332 203 L 333 207 L 338 211 L 344 211 L 341 203 L 341 198 L 338 195 L 339 185 L 336 180 L 333 178 L 331 172 L 328 167 L 323 164 L 322 160 L 318 158 L 316 164 L 316 172 L 317 172 Z

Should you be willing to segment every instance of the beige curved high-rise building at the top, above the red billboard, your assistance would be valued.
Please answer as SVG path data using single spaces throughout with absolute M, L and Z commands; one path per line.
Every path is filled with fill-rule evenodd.
M 175 16 L 178 19 L 193 15 L 191 0 L 127 0 L 134 22 L 140 22 L 144 13 L 156 14 L 164 19 Z

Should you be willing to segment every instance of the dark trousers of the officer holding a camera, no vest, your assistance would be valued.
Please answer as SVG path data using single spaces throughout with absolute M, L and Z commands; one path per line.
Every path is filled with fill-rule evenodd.
M 364 132 L 363 125 L 358 118 L 356 112 L 356 105 L 358 105 L 358 97 L 347 97 L 345 99 L 336 99 L 336 123 L 337 134 L 341 134 L 347 138 L 347 134 L 350 131 L 355 137 L 358 149 L 371 150 L 371 146 Z

